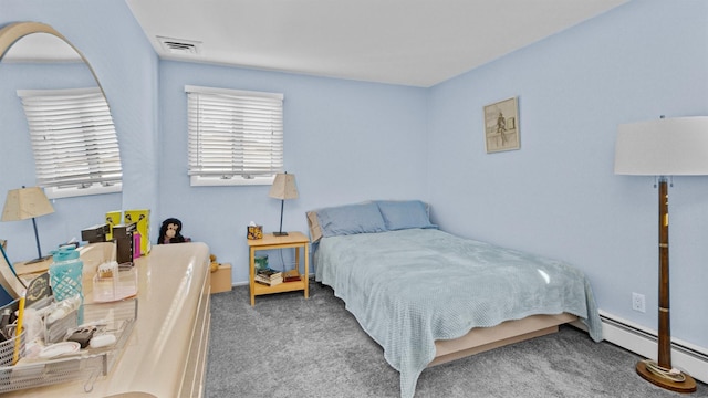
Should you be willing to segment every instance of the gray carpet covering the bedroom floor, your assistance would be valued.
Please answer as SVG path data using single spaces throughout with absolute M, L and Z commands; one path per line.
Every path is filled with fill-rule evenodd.
M 248 286 L 212 295 L 207 397 L 398 397 L 398 373 L 383 349 L 333 295 L 310 283 L 302 292 L 256 297 Z M 641 359 L 583 332 L 497 348 L 423 371 L 416 398 L 427 397 L 708 397 L 644 381 Z

